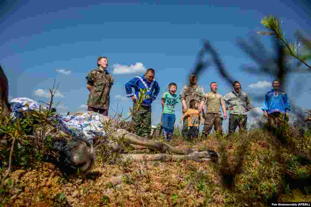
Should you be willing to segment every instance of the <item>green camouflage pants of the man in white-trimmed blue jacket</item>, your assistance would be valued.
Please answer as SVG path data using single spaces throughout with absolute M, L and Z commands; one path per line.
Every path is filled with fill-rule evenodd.
M 133 109 L 136 107 L 136 102 L 133 104 Z M 138 136 L 150 137 L 151 134 L 151 106 L 141 106 L 140 109 L 132 116 L 132 125 Z

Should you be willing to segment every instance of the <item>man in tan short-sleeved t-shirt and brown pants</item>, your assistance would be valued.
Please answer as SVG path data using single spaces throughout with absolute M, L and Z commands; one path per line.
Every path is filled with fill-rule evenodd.
M 211 92 L 208 92 L 206 97 L 206 107 L 207 112 L 205 113 L 205 122 L 203 128 L 203 137 L 206 138 L 214 125 L 214 130 L 219 131 L 222 135 L 222 128 L 221 128 L 221 111 L 224 112 L 224 119 L 227 119 L 227 111 L 225 107 L 225 101 L 220 93 L 217 92 L 218 85 L 216 82 L 212 82 L 210 84 Z M 205 106 L 204 106 L 205 108 Z

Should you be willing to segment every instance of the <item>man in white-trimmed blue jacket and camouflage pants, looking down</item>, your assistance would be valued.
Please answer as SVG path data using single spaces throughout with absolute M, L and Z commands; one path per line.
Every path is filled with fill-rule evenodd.
M 142 137 L 150 137 L 151 134 L 151 103 L 156 100 L 160 92 L 159 84 L 154 79 L 155 70 L 149 68 L 143 76 L 137 76 L 125 84 L 126 96 L 131 97 L 133 109 L 136 107 L 136 101 L 139 97 L 140 88 L 147 88 L 146 95 L 149 98 L 142 102 L 140 109 L 132 116 L 132 123 L 134 124 L 134 133 Z M 134 88 L 135 92 L 132 92 Z

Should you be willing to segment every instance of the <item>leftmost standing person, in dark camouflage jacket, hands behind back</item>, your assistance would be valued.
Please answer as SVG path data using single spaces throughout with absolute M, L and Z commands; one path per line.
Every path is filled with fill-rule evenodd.
M 108 116 L 110 104 L 110 89 L 114 84 L 114 79 L 108 73 L 108 58 L 100 57 L 97 60 L 97 69 L 92 70 L 87 76 L 86 87 L 90 91 L 87 99 L 87 110 L 98 112 Z

